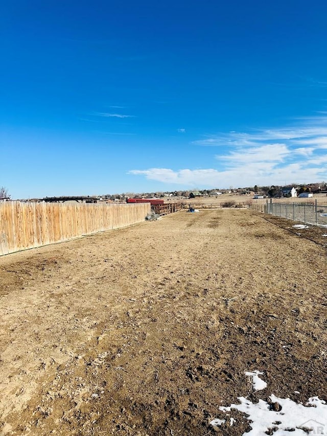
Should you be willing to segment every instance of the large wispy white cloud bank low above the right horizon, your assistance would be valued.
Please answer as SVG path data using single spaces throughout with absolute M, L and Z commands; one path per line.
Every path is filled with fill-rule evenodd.
M 327 117 L 312 117 L 278 129 L 205 135 L 193 144 L 218 148 L 213 156 L 215 168 L 150 168 L 129 173 L 172 185 L 214 188 L 284 185 L 327 178 Z

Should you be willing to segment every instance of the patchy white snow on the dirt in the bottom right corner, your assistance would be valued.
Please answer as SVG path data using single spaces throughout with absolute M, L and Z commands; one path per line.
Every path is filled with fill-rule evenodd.
M 256 377 L 260 380 L 259 386 L 266 384 L 259 378 L 258 374 L 263 373 L 259 371 L 245 373 L 245 375 L 253 377 L 254 388 L 256 387 L 254 384 Z M 266 434 L 272 433 L 274 436 L 327 435 L 327 405 L 325 401 L 320 400 L 318 397 L 309 398 L 305 404 L 298 404 L 290 398 L 279 398 L 273 394 L 270 395 L 270 399 L 266 401 L 259 400 L 258 403 L 252 403 L 247 397 L 238 397 L 238 400 L 240 404 L 219 407 L 219 410 L 228 417 L 229 424 L 227 424 L 228 419 L 218 418 L 212 420 L 210 424 L 217 430 L 221 427 L 223 431 L 223 429 L 237 424 L 238 419 L 235 415 L 235 418 L 229 418 L 228 412 L 238 410 L 242 412 L 242 415 L 239 416 L 240 421 L 243 421 L 244 418 L 250 421 L 251 430 L 243 433 L 243 436 L 266 436 Z

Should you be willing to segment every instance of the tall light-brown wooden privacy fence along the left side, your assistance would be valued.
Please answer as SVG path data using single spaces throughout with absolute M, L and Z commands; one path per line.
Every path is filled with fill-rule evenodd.
M 0 256 L 144 221 L 150 203 L 0 202 Z

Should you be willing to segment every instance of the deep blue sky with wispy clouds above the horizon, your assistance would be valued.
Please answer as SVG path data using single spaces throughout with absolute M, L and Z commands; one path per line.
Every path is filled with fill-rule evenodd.
M 13 198 L 327 179 L 327 2 L 0 12 L 0 186 Z

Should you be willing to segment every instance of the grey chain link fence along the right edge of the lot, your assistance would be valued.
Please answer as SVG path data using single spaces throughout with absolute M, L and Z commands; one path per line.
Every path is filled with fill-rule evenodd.
M 327 204 L 317 204 L 317 200 L 312 203 L 273 203 L 267 201 L 266 204 L 252 204 L 250 208 L 305 224 L 327 226 Z

